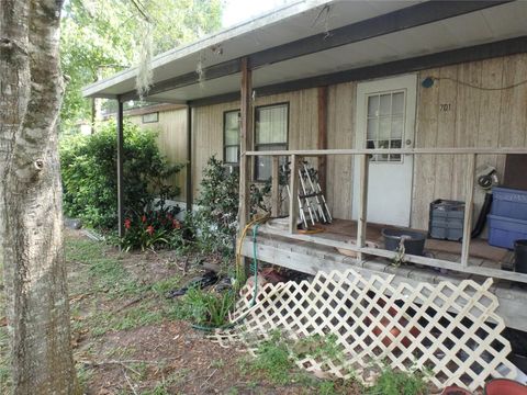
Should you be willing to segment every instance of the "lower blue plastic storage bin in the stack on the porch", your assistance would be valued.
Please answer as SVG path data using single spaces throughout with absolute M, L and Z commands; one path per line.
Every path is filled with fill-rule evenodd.
M 514 241 L 527 239 L 527 221 L 489 215 L 489 244 L 514 249 Z

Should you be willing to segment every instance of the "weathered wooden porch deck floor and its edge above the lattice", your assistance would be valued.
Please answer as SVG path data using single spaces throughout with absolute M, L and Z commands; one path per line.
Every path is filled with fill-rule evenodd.
M 381 244 L 382 225 L 368 224 L 367 240 Z M 250 234 L 250 233 L 249 233 Z M 332 225 L 324 226 L 324 232 L 314 235 L 289 234 L 282 224 L 270 222 L 258 229 L 257 255 L 258 259 L 268 263 L 314 274 L 317 271 L 355 269 L 362 275 L 394 274 L 394 283 L 417 282 L 438 283 L 451 281 L 459 283 L 471 279 L 482 282 L 485 276 L 456 271 L 452 269 L 436 269 L 414 263 L 394 267 L 392 260 L 382 257 L 363 256 L 356 258 L 355 252 L 346 250 L 345 246 L 354 245 L 357 235 L 357 224 L 351 221 L 336 219 Z M 344 248 L 343 248 L 344 246 Z M 253 240 L 247 237 L 243 245 L 243 255 L 253 257 Z M 428 239 L 425 253 L 437 259 L 459 262 L 461 244 L 446 240 Z M 487 267 L 501 269 L 512 261 L 512 253 L 505 249 L 489 246 L 486 240 L 474 239 L 470 246 L 471 267 Z M 459 263 L 460 269 L 461 263 Z M 452 263 L 451 268 L 456 268 Z M 512 273 L 513 274 L 513 273 Z M 494 294 L 498 297 L 498 314 L 508 327 L 527 330 L 527 286 L 511 280 L 498 279 L 493 285 Z

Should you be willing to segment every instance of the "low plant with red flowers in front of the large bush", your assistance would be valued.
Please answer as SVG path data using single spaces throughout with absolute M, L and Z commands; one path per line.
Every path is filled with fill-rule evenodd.
M 176 215 L 181 208 L 167 205 L 164 200 L 145 204 L 142 212 L 128 211 L 124 218 L 124 237 L 121 246 L 125 250 L 155 249 L 167 245 L 170 234 L 181 228 Z

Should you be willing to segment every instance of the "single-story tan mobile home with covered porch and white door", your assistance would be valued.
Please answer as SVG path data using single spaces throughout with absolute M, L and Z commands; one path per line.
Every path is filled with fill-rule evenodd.
M 525 177 L 526 20 L 520 0 L 295 1 L 157 56 L 146 100 L 184 105 L 165 144 L 190 162 L 189 206 L 212 155 L 239 166 L 242 227 L 249 183 L 277 174 L 279 157 L 293 170 L 301 158 L 318 169 L 336 219 L 325 233 L 299 234 L 292 199 L 288 229 L 261 227 L 260 259 L 310 273 L 352 266 L 405 282 L 492 276 L 507 326 L 527 330 L 527 290 L 515 285 L 527 274 L 502 269 L 506 249 L 470 237 L 486 193 L 480 169 L 495 169 L 500 182 Z M 136 74 L 83 94 L 117 100 L 122 120 L 122 103 L 137 99 Z M 385 225 L 428 230 L 438 199 L 464 202 L 462 242 L 429 240 L 434 253 L 408 255 L 414 264 L 403 267 L 390 264 L 396 251 L 366 242 Z M 243 247 L 250 257 L 253 241 Z

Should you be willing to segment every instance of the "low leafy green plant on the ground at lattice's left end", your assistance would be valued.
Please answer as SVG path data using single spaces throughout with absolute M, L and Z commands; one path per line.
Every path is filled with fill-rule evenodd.
M 233 291 L 214 293 L 191 287 L 178 301 L 177 318 L 204 327 L 221 327 L 227 323 L 228 313 L 234 309 L 236 295 Z

